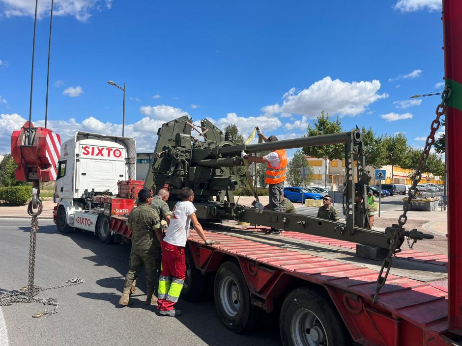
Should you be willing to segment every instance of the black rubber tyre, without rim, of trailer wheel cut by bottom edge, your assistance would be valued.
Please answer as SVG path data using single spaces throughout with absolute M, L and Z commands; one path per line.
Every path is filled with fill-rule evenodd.
M 287 295 L 279 315 L 279 330 L 284 346 L 304 346 L 295 345 L 290 332 L 292 316 L 300 308 L 309 309 L 318 316 L 326 331 L 327 346 L 351 345 L 351 338 L 330 297 L 320 290 L 300 287 Z

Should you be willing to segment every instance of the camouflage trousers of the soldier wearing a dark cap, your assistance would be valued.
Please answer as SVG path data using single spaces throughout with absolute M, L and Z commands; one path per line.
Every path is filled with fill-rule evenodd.
M 157 268 L 160 265 L 160 249 L 140 250 L 132 248 L 130 252 L 130 269 L 128 269 L 125 276 L 124 290 L 131 287 L 133 280 L 137 278 L 143 265 L 146 270 L 147 293 L 154 293 Z

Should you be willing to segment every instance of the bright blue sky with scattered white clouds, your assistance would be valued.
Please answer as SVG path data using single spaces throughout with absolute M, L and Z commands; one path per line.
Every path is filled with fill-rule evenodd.
M 39 0 L 32 121 L 43 126 L 49 6 Z M 351 4 L 354 3 L 354 6 Z M 29 118 L 33 0 L 0 0 L 0 153 Z M 152 151 L 189 114 L 243 133 L 306 133 L 321 109 L 346 130 L 403 132 L 423 145 L 439 97 L 440 0 L 55 0 L 49 126 L 125 134 Z

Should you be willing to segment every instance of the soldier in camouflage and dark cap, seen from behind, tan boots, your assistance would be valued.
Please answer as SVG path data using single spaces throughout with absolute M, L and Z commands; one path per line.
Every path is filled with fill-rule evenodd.
M 130 252 L 130 269 L 125 276 L 122 297 L 119 304 L 130 305 L 130 291 L 135 275 L 144 264 L 146 269 L 146 304 L 154 305 L 155 273 L 159 266 L 160 241 L 162 231 L 160 218 L 156 211 L 149 208 L 152 202 L 151 191 L 143 188 L 138 192 L 138 206 L 128 215 L 127 226 L 132 231 L 132 250 Z

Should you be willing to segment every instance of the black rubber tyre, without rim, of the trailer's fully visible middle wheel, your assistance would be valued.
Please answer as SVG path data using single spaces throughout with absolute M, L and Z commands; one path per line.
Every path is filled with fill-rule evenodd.
M 228 317 L 223 310 L 220 299 L 220 281 L 227 276 L 231 276 L 236 282 L 241 295 L 239 311 L 236 316 L 232 318 Z M 262 320 L 263 311 L 251 304 L 250 291 L 247 286 L 247 282 L 245 281 L 244 274 L 242 274 L 241 269 L 239 266 L 234 264 L 234 262 L 225 262 L 218 268 L 215 276 L 213 292 L 218 316 L 223 324 L 234 333 L 251 331 L 252 329 L 255 329 Z

